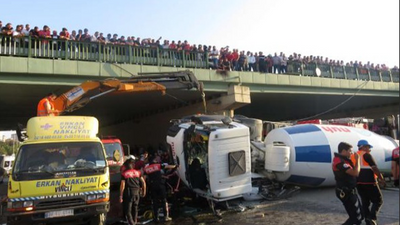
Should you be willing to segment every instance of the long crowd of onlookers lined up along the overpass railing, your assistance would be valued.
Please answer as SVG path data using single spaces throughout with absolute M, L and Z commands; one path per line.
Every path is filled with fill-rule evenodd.
M 399 71 L 398 66 L 389 68 L 386 64 L 378 63 L 363 63 L 359 60 L 344 62 L 343 60 L 329 59 L 323 56 L 303 56 L 298 53 L 293 53 L 287 56 L 285 53 L 280 52 L 280 54 L 264 54 L 262 51 L 251 52 L 251 51 L 240 51 L 239 49 L 230 49 L 229 46 L 217 48 L 211 45 L 202 44 L 190 44 L 187 40 L 175 41 L 175 40 L 161 40 L 162 37 L 158 39 L 144 38 L 134 36 L 119 36 L 118 34 L 104 35 L 101 32 L 94 32 L 93 35 L 89 33 L 87 28 L 79 29 L 78 31 L 72 30 L 69 33 L 68 29 L 63 27 L 60 32 L 57 30 L 50 29 L 49 26 L 44 25 L 42 29 L 35 26 L 31 29 L 29 24 L 17 25 L 16 29 L 13 28 L 11 23 L 7 23 L 3 26 L 2 21 L 0 21 L 1 34 L 3 36 L 11 36 L 13 38 L 21 38 L 25 36 L 30 36 L 32 38 L 42 38 L 42 39 L 56 39 L 56 40 L 68 40 L 68 41 L 80 41 L 80 42 L 95 42 L 101 44 L 111 44 L 111 45 L 128 45 L 137 47 L 149 47 L 158 48 L 160 50 L 171 50 L 181 52 L 193 52 L 199 55 L 193 60 L 208 60 L 210 62 L 210 67 L 213 69 L 223 69 L 230 71 L 255 71 L 264 73 L 286 73 L 288 62 L 298 62 L 302 64 L 317 63 L 319 65 L 330 65 L 330 66 L 348 66 L 354 68 L 364 68 L 364 69 L 375 69 L 381 71 L 392 70 L 395 72 Z M 25 39 L 29 42 L 28 39 Z M 3 41 L 4 43 L 4 41 Z M 208 55 L 208 59 L 205 57 Z

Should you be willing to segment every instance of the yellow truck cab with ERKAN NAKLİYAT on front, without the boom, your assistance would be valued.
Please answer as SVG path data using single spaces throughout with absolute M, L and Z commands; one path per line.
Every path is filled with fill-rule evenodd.
M 109 171 L 94 117 L 28 121 L 7 192 L 7 224 L 105 224 Z

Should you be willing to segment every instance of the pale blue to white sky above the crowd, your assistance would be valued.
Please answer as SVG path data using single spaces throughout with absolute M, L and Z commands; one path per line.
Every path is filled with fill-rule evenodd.
M 91 34 L 399 66 L 399 0 L 18 0 L 1 6 L 8 10 L 0 20 L 14 28 L 88 28 Z

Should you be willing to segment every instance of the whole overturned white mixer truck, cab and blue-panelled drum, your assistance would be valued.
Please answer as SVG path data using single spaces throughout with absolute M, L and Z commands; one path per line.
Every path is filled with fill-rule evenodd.
M 390 137 L 341 125 L 281 127 L 261 141 L 263 124 L 258 119 L 232 121 L 224 116 L 194 115 L 172 122 L 167 143 L 180 165 L 180 178 L 213 201 L 261 192 L 260 183 L 254 182 L 260 179 L 295 186 L 333 186 L 332 159 L 342 141 L 357 146 L 360 139 L 367 139 L 374 146 L 371 154 L 378 167 L 390 171 L 391 152 L 398 146 Z M 194 167 L 201 167 L 203 175 L 193 173 Z

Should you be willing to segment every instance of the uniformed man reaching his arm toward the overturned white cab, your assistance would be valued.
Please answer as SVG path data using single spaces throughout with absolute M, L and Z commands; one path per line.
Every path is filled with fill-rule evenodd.
M 172 220 L 169 217 L 167 191 L 165 189 L 165 178 L 163 177 L 163 170 L 174 168 L 177 168 L 177 166 L 168 165 L 166 163 L 161 164 L 156 160 L 156 157 L 154 155 L 149 158 L 149 164 L 144 167 L 144 172 L 147 176 L 147 183 L 151 192 L 155 222 L 160 221 L 158 213 L 160 206 L 163 208 L 164 221 L 167 222 Z

